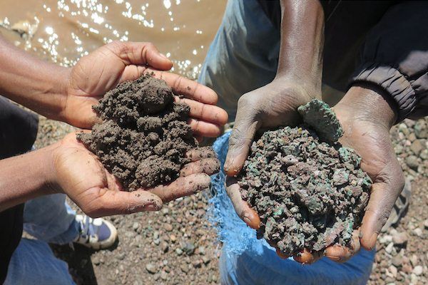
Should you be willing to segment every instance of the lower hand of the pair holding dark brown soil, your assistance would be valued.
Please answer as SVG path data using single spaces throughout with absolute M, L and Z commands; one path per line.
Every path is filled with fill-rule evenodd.
M 158 211 L 163 202 L 192 195 L 210 185 L 210 176 L 218 170 L 218 160 L 193 150 L 191 162 L 183 167 L 180 177 L 169 185 L 134 192 L 123 191 L 96 155 L 76 140 L 75 134 L 56 144 L 51 152 L 54 178 L 51 189 L 59 189 L 90 217 Z M 213 154 L 214 155 L 214 152 Z

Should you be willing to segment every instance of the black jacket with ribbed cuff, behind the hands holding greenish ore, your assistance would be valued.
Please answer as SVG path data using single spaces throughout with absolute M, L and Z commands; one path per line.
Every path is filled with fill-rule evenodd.
M 258 0 L 280 28 L 280 1 Z M 320 1 L 323 83 L 346 92 L 372 83 L 397 103 L 398 120 L 428 115 L 428 2 Z

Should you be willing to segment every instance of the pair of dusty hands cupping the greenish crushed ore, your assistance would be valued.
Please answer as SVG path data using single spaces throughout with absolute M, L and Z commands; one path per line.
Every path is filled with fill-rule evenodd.
M 229 151 L 225 160 L 227 191 L 236 212 L 248 226 L 258 229 L 260 218 L 240 195 L 235 176 L 242 170 L 255 132 L 280 125 L 295 125 L 299 121 L 297 107 L 315 98 L 314 88 L 290 81 L 275 79 L 272 83 L 246 93 L 238 101 L 238 113 L 230 135 Z M 355 230 L 350 247 L 333 245 L 324 253 L 305 249 L 301 263 L 312 263 L 322 257 L 346 261 L 364 247 L 373 249 L 377 235 L 387 221 L 394 202 L 404 187 L 404 177 L 389 129 L 396 120 L 394 110 L 382 97 L 382 91 L 372 86 L 354 86 L 334 108 L 345 134 L 342 145 L 352 147 L 362 157 L 362 170 L 373 180 L 372 192 L 362 226 Z M 280 252 L 278 255 L 283 257 Z

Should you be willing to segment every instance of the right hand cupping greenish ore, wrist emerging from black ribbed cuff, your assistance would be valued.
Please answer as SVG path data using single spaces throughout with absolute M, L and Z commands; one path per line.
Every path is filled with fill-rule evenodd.
M 370 86 L 352 87 L 334 110 L 344 130 L 340 142 L 357 151 L 362 157 L 362 170 L 373 180 L 359 229 L 360 239 L 354 239 L 350 248 L 336 246 L 325 252 L 332 260 L 346 261 L 358 252 L 360 243 L 367 250 L 374 248 L 377 235 L 404 187 L 404 176 L 389 138 L 389 129 L 397 115 L 393 104 L 382 97 L 382 90 Z

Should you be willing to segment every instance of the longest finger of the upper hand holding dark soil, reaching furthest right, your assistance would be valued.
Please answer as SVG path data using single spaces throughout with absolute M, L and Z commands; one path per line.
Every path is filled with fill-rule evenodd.
M 222 108 L 215 105 L 207 105 L 195 100 L 175 97 L 175 100 L 185 103 L 190 107 L 190 117 L 214 123 L 216 125 L 224 125 L 228 123 L 228 113 Z

